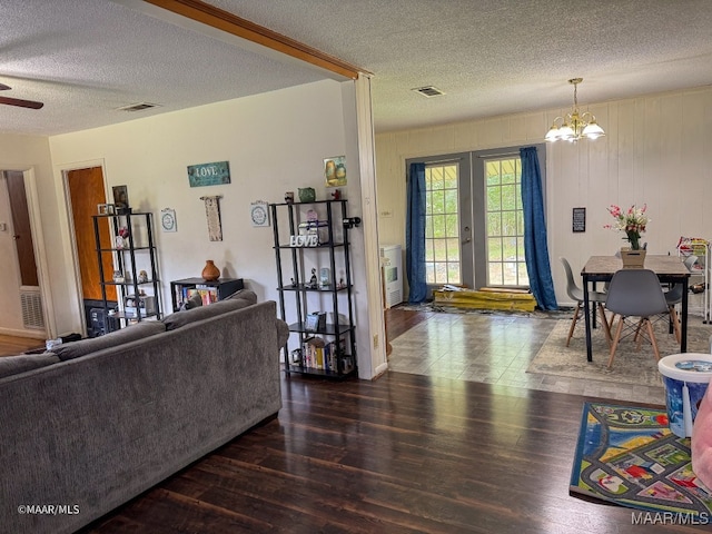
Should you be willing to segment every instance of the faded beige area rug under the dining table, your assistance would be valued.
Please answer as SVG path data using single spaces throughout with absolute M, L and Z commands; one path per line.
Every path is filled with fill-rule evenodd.
M 662 377 L 657 372 L 657 360 L 649 340 L 643 339 L 640 352 L 632 337 L 623 338 L 619 344 L 613 367 L 609 365 L 609 344 L 602 328 L 595 328 L 591 336 L 593 362 L 586 360 L 586 340 L 583 323 L 576 325 L 574 336 L 566 347 L 566 336 L 571 319 L 560 319 L 542 345 L 527 373 L 584 378 L 590 380 L 615 382 L 620 384 L 662 387 Z M 709 354 L 709 326 L 688 326 L 688 352 Z M 675 336 L 668 333 L 665 320 L 655 325 L 655 339 L 660 355 L 680 353 Z

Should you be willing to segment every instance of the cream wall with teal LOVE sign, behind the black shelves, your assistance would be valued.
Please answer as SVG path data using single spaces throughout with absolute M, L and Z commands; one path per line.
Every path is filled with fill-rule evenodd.
M 169 281 L 200 276 L 206 259 L 215 260 L 222 276 L 244 278 L 259 300 L 278 300 L 273 229 L 251 226 L 250 202 L 280 202 L 285 191 L 299 187 L 314 187 L 317 199 L 330 196 L 324 158 L 358 154 L 355 140 L 345 138 L 345 108 L 353 107 L 344 102 L 342 85 L 327 80 L 56 136 L 50 138 L 55 180 L 60 188 L 62 169 L 102 160 L 108 190 L 128 186 L 131 207 L 154 212 L 156 225 L 162 208 L 176 210 L 178 231 L 157 228 L 155 236 L 164 309 L 170 309 Z M 189 187 L 186 167 L 211 161 L 229 161 L 231 184 Z M 342 190 L 358 205 L 356 164 Z M 200 197 L 212 195 L 222 196 L 222 241 L 208 239 Z M 66 210 L 58 226 L 68 231 Z M 355 250 L 355 270 L 364 269 L 363 258 L 363 250 Z M 356 296 L 359 306 L 367 307 L 365 295 Z M 359 346 L 359 365 L 368 358 L 368 346 Z

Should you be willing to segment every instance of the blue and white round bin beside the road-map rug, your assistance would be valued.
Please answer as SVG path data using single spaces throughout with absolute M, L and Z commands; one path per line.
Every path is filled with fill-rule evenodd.
M 692 423 L 712 379 L 712 355 L 671 354 L 657 362 L 665 384 L 670 429 L 680 437 L 692 436 Z

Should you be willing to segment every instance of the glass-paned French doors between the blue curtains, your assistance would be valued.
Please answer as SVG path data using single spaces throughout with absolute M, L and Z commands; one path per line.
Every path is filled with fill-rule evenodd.
M 428 288 L 527 288 L 518 147 L 412 162 L 425 164 Z

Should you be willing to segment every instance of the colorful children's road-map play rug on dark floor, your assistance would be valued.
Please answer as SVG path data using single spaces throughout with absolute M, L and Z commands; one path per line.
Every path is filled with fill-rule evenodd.
M 585 403 L 570 491 L 712 522 L 712 492 L 692 472 L 690 438 L 670 432 L 661 409 Z

